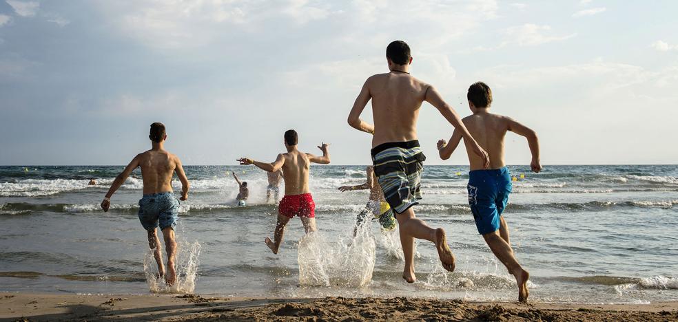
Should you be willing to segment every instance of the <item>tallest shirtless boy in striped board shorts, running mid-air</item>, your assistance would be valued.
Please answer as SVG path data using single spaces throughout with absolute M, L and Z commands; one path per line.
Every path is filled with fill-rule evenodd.
M 414 273 L 414 239 L 433 241 L 443 268 L 453 271 L 455 258 L 447 245 L 445 231 L 433 229 L 418 219 L 412 208 L 421 199 L 421 173 L 426 160 L 417 140 L 417 119 L 424 101 L 440 114 L 469 141 L 473 152 L 486 160 L 487 154 L 473 140 L 457 113 L 433 86 L 409 74 L 412 63 L 410 49 L 403 41 L 393 41 L 386 48 L 390 72 L 370 76 L 362 86 L 349 114 L 351 127 L 371 133 L 374 172 L 387 202 L 396 212 L 400 226 L 400 243 L 405 257 L 402 278 L 409 283 L 416 280 Z M 374 125 L 360 119 L 365 105 L 372 100 Z

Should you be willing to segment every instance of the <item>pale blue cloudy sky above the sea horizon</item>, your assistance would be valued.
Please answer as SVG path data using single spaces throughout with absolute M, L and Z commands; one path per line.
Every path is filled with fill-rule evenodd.
M 461 116 L 475 81 L 491 110 L 537 131 L 542 164 L 676 164 L 677 1 L 0 0 L 0 164 L 127 164 L 167 126 L 183 164 L 302 151 L 369 164 L 347 125 L 385 48 Z M 371 107 L 364 120 L 371 121 Z M 453 127 L 424 103 L 427 164 Z M 506 136 L 506 162 L 529 164 Z

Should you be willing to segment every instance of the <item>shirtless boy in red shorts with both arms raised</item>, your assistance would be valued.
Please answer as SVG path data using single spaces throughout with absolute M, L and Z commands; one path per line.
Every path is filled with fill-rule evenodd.
M 294 130 L 285 132 L 285 148 L 287 153 L 278 154 L 274 162 L 265 163 L 255 161 L 249 158 L 240 158 L 240 164 L 254 164 L 256 167 L 269 172 L 276 172 L 283 169 L 283 180 L 285 180 L 285 196 L 278 204 L 278 224 L 274 235 L 274 241 L 266 237 L 266 245 L 271 248 L 274 254 L 278 254 L 278 248 L 285 235 L 285 225 L 294 216 L 301 219 L 306 233 L 317 230 L 316 228 L 316 203 L 313 201 L 309 191 L 309 169 L 311 162 L 320 164 L 329 164 L 329 144 L 322 143 L 318 147 L 322 151 L 322 156 L 316 156 L 311 153 L 303 153 L 297 149 L 299 141 L 298 134 Z

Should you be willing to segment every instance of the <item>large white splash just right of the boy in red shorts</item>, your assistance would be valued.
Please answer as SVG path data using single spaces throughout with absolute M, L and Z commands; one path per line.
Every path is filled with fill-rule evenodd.
M 302 286 L 365 286 L 372 279 L 375 241 L 369 225 L 345 243 L 330 244 L 320 232 L 299 241 L 299 283 Z

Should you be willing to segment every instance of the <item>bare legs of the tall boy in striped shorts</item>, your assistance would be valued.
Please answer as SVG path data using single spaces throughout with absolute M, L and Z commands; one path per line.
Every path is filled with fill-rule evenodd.
M 396 215 L 400 231 L 400 244 L 405 257 L 405 268 L 402 277 L 409 283 L 416 280 L 414 275 L 414 238 L 433 241 L 438 250 L 438 256 L 443 268 L 454 270 L 455 258 L 447 245 L 445 231 L 442 228 L 433 229 L 423 220 L 415 217 L 413 208 Z

